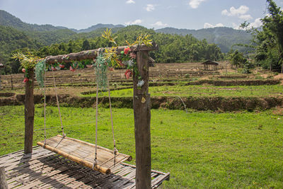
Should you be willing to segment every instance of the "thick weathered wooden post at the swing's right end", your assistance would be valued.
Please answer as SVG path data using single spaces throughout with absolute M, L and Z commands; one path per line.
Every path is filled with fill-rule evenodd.
M 148 59 L 149 54 L 147 51 L 137 52 L 139 76 L 134 76 L 134 136 L 136 141 L 137 189 L 151 188 L 151 106 Z M 144 84 L 137 86 L 142 81 Z

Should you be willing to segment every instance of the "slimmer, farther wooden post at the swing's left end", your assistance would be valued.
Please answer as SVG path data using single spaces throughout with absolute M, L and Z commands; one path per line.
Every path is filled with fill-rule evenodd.
M 33 151 L 33 120 L 35 104 L 33 101 L 34 75 L 33 69 L 28 69 L 29 81 L 25 83 L 25 147 L 24 153 Z

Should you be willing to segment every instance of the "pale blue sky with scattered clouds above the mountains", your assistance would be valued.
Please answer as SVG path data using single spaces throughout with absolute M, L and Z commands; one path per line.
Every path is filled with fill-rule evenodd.
M 275 0 L 283 7 L 283 0 Z M 146 28 L 257 27 L 266 15 L 265 0 L 0 0 L 0 9 L 26 23 L 83 29 L 97 23 Z

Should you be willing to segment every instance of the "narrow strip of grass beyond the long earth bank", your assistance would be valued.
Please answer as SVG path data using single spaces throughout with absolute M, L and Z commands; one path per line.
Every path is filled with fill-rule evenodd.
M 151 96 L 283 96 L 283 86 L 153 86 L 149 87 L 149 92 Z M 129 88 L 111 91 L 111 96 L 132 97 L 132 93 L 132 88 Z M 86 96 L 96 96 L 96 93 Z M 108 96 L 108 93 L 100 93 L 100 96 Z

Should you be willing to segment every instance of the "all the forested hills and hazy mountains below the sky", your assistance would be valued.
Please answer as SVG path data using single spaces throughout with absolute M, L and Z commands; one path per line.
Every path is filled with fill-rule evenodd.
M 219 60 L 224 58 L 222 52 L 230 50 L 234 43 L 243 43 L 250 39 L 250 34 L 232 28 L 202 30 L 163 28 L 154 30 L 139 25 L 125 27 L 123 25 L 97 24 L 87 29 L 74 30 L 53 25 L 23 23 L 19 18 L 6 11 L 0 11 L 0 25 L 0 61 L 6 64 L 6 73 L 16 73 L 20 69 L 18 62 L 9 59 L 15 50 L 22 52 L 30 50 L 40 57 L 46 57 L 108 47 L 110 44 L 101 38 L 101 33 L 105 30 L 101 27 L 105 26 L 112 28 L 118 45 L 125 45 L 125 40 L 134 41 L 141 33 L 150 34 L 151 39 L 159 45 L 158 51 L 150 52 L 156 62 Z

